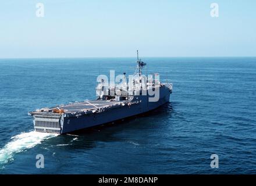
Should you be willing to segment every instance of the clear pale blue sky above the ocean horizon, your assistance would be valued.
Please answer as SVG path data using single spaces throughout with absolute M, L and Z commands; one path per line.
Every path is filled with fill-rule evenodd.
M 255 0 L 0 0 L 0 58 L 256 56 L 255 9 Z

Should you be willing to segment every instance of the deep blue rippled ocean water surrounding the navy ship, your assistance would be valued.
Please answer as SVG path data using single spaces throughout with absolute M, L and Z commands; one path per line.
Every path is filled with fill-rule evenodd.
M 1 174 L 255 174 L 256 58 L 145 58 L 173 83 L 147 115 L 72 135 L 36 133 L 27 112 L 95 98 L 98 74 L 136 59 L 1 59 Z M 168 76 L 167 76 L 168 73 Z M 37 169 L 38 154 L 44 169 Z M 210 166 L 211 155 L 219 168 Z

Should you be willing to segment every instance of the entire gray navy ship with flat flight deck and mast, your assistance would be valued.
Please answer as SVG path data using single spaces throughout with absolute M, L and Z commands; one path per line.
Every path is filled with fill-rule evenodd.
M 94 101 L 69 103 L 29 112 L 33 116 L 35 131 L 71 133 L 140 115 L 169 102 L 172 84 L 161 83 L 158 74 L 155 74 L 155 78 L 143 75 L 145 65 L 138 58 L 137 51 L 137 68 L 132 77 L 129 76 L 129 83 L 126 81 L 126 73 L 123 73 L 121 85 L 108 84 L 102 79 L 98 81 L 97 99 Z

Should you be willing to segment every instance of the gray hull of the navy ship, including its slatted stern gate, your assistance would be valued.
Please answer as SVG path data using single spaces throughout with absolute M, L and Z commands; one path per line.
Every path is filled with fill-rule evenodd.
M 90 102 L 87 102 L 89 104 L 82 102 L 75 105 L 63 106 L 62 108 L 64 109 L 69 108 L 73 111 L 80 110 L 79 112 L 73 112 L 70 114 L 31 112 L 30 115 L 34 117 L 33 123 L 35 131 L 65 134 L 154 110 L 164 103 L 169 102 L 171 92 L 172 90 L 170 88 L 163 85 L 162 87 L 159 87 L 159 99 L 157 102 L 150 102 L 149 95 L 138 95 L 134 96 L 133 102 L 92 101 L 95 105 L 103 105 L 102 107 L 97 107 Z M 92 105 L 98 109 L 93 110 L 94 107 Z M 87 107 L 84 109 L 86 111 L 81 112 L 81 107 Z

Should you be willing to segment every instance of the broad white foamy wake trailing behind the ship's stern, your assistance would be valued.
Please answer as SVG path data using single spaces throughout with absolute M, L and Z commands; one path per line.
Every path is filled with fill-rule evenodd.
M 15 153 L 26 151 L 26 149 L 33 148 L 33 146 L 40 144 L 41 141 L 56 137 L 57 135 L 58 134 L 38 133 L 35 131 L 15 135 L 10 138 L 10 142 L 0 149 L 0 164 L 11 162 Z

